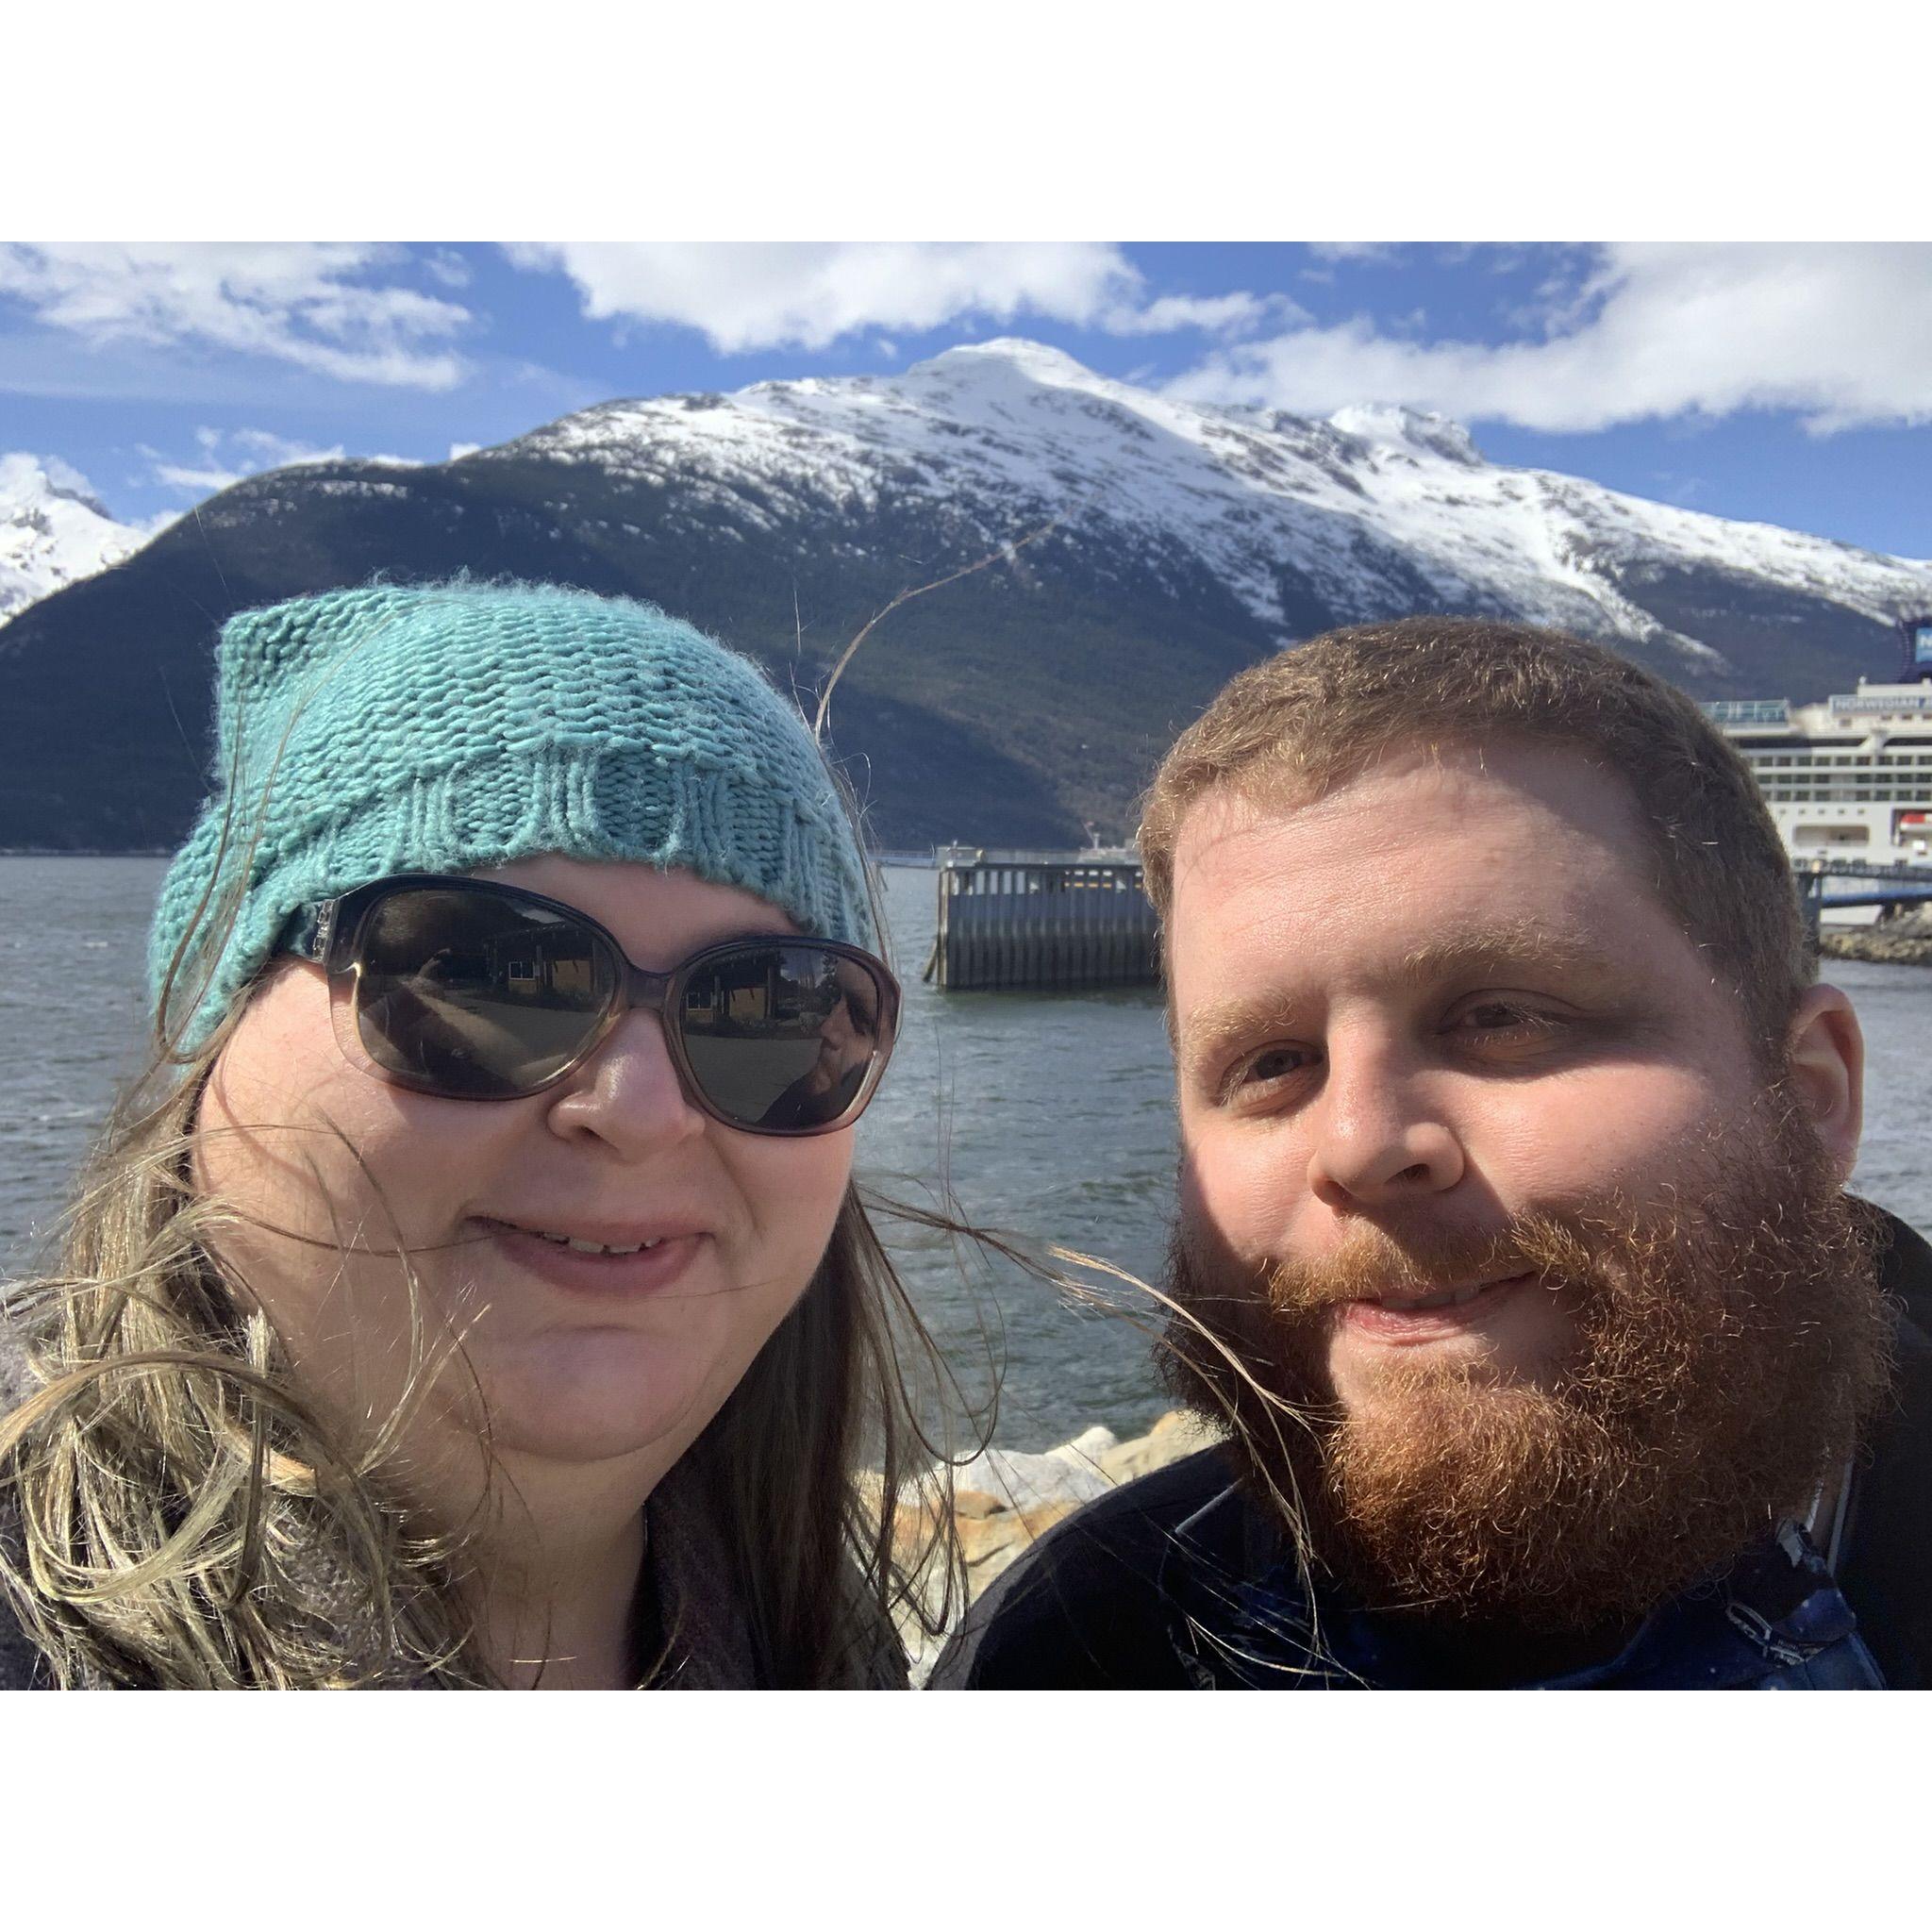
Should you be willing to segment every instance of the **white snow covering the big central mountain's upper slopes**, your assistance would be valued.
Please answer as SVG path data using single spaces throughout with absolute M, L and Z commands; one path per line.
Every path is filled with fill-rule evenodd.
M 1018 338 L 896 377 L 609 402 L 468 460 L 527 456 L 661 485 L 694 526 L 775 531 L 923 497 L 989 549 L 1047 520 L 1157 570 L 1179 547 L 1279 643 L 1312 593 L 1350 620 L 1434 601 L 1721 665 L 1623 593 L 1633 564 L 1768 580 L 1882 622 L 1932 599 L 1932 562 L 1507 469 L 1441 415 L 1200 406 Z

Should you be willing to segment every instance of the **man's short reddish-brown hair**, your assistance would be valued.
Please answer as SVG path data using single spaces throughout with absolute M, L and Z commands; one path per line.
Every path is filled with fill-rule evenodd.
M 1387 752 L 1499 740 L 1565 746 L 1623 781 L 1658 898 L 1710 954 L 1776 1068 L 1814 960 L 1791 858 L 1750 767 L 1683 692 L 1528 624 L 1356 624 L 1240 672 L 1180 734 L 1144 800 L 1140 854 L 1163 929 L 1180 823 L 1208 792 L 1308 802 Z

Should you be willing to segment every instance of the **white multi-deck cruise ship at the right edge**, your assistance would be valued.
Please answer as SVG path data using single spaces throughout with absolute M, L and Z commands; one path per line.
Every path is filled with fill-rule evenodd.
M 1793 860 L 1932 860 L 1932 616 L 1911 618 L 1897 684 L 1820 703 L 1706 705 L 1745 753 Z

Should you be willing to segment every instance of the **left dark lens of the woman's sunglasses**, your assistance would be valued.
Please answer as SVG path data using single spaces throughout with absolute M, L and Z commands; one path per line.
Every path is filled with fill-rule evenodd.
M 566 1066 L 612 1005 L 593 933 L 491 893 L 390 893 L 357 937 L 357 1037 L 369 1057 L 456 1099 L 527 1094 Z

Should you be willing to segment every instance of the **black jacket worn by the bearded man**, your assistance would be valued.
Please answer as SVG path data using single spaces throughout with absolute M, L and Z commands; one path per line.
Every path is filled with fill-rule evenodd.
M 1903 1304 L 1889 1412 L 1861 1457 L 1837 1565 L 1889 1689 L 1932 1689 L 1932 1248 L 1884 1215 L 1882 1279 Z M 937 1690 L 1188 1690 L 1252 1681 L 1236 1588 L 1283 1536 L 1204 1449 L 1057 1524 L 968 1611 Z M 1320 1677 L 1281 1675 L 1283 1687 Z

